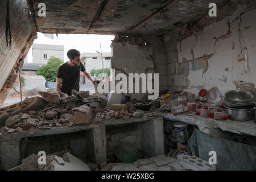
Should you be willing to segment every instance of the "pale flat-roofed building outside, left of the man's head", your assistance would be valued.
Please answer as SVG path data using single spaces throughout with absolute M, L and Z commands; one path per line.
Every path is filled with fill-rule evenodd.
M 64 46 L 32 44 L 32 63 L 46 64 L 51 56 L 64 60 Z

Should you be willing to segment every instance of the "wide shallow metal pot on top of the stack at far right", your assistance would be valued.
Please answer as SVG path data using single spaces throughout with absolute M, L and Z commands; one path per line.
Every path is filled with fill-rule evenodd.
M 253 94 L 243 90 L 230 90 L 225 93 L 224 98 L 226 105 L 231 105 L 250 102 L 251 100 L 253 100 Z

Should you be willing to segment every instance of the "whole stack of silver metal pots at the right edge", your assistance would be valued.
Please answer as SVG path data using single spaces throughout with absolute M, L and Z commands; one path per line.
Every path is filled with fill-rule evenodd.
M 255 121 L 255 103 L 253 92 L 230 90 L 225 93 L 225 107 L 228 118 L 233 121 Z

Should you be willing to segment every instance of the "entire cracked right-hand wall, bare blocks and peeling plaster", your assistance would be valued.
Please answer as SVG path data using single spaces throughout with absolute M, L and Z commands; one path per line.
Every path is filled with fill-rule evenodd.
M 217 15 L 221 18 L 215 19 L 214 23 L 201 23 L 203 27 L 197 31 L 193 32 L 192 27 L 210 19 L 197 20 L 197 23 L 191 25 L 190 31 L 179 29 L 164 35 L 168 62 L 171 65 L 168 70 L 172 73 L 170 90 L 186 90 L 198 94 L 202 88 L 214 88 L 212 90 L 218 96 L 223 96 L 232 89 L 255 91 L 255 2 L 247 1 L 247 4 L 229 6 L 228 10 L 217 9 Z M 247 75 L 245 61 L 238 60 L 243 58 L 242 47 L 247 47 Z M 218 100 L 220 98 L 221 96 Z

